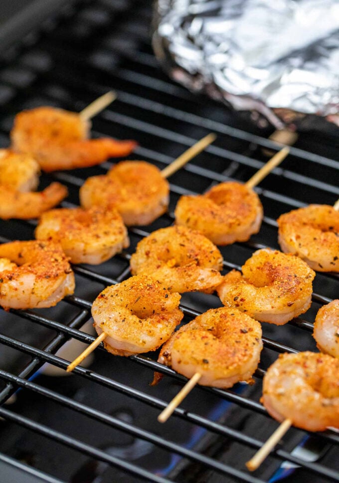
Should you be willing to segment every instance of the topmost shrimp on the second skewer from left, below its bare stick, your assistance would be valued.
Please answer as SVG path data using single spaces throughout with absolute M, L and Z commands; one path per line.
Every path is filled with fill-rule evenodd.
M 88 178 L 80 188 L 84 208 L 114 206 L 127 226 L 148 225 L 169 205 L 169 183 L 145 161 L 122 161 L 107 175 Z

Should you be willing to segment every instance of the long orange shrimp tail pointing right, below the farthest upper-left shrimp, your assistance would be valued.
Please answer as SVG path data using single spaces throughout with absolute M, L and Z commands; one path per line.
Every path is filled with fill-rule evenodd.
M 45 172 L 89 168 L 108 158 L 128 156 L 137 146 L 132 140 L 118 141 L 110 138 L 73 141 L 63 146 L 49 146 L 40 151 L 37 160 Z

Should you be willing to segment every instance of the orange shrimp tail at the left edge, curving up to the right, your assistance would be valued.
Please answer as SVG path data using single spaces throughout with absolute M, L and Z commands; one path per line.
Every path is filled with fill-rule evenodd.
M 67 196 L 67 188 L 60 183 L 51 183 L 40 192 L 21 193 L 0 186 L 0 218 L 39 218 L 46 210 L 58 205 Z

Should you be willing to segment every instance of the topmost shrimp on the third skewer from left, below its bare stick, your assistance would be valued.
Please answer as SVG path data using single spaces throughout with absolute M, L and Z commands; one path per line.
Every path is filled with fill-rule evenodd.
M 245 242 L 258 233 L 263 207 L 258 195 L 241 183 L 220 183 L 201 196 L 181 196 L 175 223 L 198 230 L 216 245 Z

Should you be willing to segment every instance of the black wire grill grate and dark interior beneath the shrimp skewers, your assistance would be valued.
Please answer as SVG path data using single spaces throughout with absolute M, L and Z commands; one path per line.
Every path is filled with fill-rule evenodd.
M 105 286 L 130 276 L 129 258 L 137 242 L 172 224 L 180 195 L 202 193 L 221 181 L 246 181 L 267 161 L 265 149 L 279 149 L 268 139 L 270 128 L 254 127 L 169 80 L 150 44 L 151 1 L 87 1 L 66 13 L 57 22 L 46 22 L 39 35 L 30 35 L 1 63 L 2 146 L 8 145 L 13 117 L 21 109 L 48 104 L 80 111 L 110 89 L 118 99 L 93 119 L 94 136 L 136 139 L 135 159 L 162 169 L 208 132 L 215 132 L 217 140 L 170 177 L 169 214 L 151 226 L 130 229 L 131 246 L 124 253 L 99 266 L 73 267 L 73 296 L 50 309 L 1 311 L 3 472 L 15 472 L 16 482 L 254 483 L 286 475 L 292 482 L 339 481 L 339 435 L 334 431 L 308 435 L 292 428 L 257 472 L 245 469 L 277 427 L 259 403 L 264 371 L 278 353 L 316 350 L 313 321 L 321 305 L 338 298 L 336 274 L 317 273 L 312 307 L 302 318 L 283 327 L 263 324 L 264 350 L 254 386 L 238 384 L 227 391 L 196 387 L 165 425 L 156 418 L 184 378 L 159 365 L 157 353 L 119 358 L 99 348 L 90 368 L 78 367 L 69 377 L 47 375 L 46 363 L 64 372 L 68 361 L 58 351 L 68 340 L 94 340 L 93 332 L 82 329 L 90 321 L 91 302 Z M 265 213 L 260 233 L 221 248 L 224 273 L 240 269 L 257 248 L 279 248 L 275 220 L 280 214 L 308 203 L 335 203 L 336 143 L 317 133 L 300 135 L 281 167 L 256 189 Z M 75 206 L 84 179 L 111 166 L 109 161 L 45 174 L 40 188 L 61 181 L 69 189 L 62 206 Z M 0 241 L 32 239 L 35 225 L 0 221 Z M 221 306 L 216 295 L 201 293 L 183 294 L 181 302 L 184 322 Z M 168 377 L 151 388 L 154 370 Z M 298 469 L 293 471 L 293 465 Z

